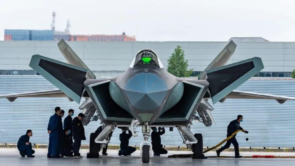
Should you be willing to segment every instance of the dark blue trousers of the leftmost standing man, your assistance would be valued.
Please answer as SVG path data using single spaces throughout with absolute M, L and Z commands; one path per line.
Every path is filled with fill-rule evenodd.
M 59 134 L 57 132 L 52 132 L 49 134 L 49 145 L 47 157 L 56 157 L 59 155 Z

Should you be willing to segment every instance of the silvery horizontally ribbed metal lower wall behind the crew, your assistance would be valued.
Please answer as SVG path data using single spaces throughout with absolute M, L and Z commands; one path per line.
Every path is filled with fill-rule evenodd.
M 0 76 L 0 94 L 51 88 L 54 86 L 41 76 Z M 295 80 L 250 79 L 238 89 L 295 97 Z M 33 137 L 30 141 L 47 144 L 47 124 L 56 106 L 65 111 L 73 108 L 76 111 L 75 116 L 80 112 L 79 105 L 69 102 L 66 98 L 19 98 L 15 102 L 0 99 L 0 142 L 17 143 L 19 136 L 27 129 L 32 129 Z M 245 141 L 245 134 L 238 134 L 237 139 L 241 147 L 295 147 L 294 101 L 278 104 L 273 100 L 227 99 L 213 107 L 215 110 L 212 115 L 216 125 L 205 127 L 202 123 L 194 123 L 191 129 L 193 133 L 203 134 L 204 146 L 214 146 L 223 140 L 228 123 L 238 114 L 242 114 L 244 121 L 241 126 L 249 131 L 249 141 Z M 88 144 L 90 133 L 98 126 L 99 122 L 91 122 L 85 126 L 87 140 L 83 141 L 83 144 Z M 140 133 L 140 128 L 137 130 Z M 119 144 L 119 134 L 120 130 L 116 129 L 111 144 Z M 176 128 L 173 132 L 166 128 L 162 140 L 163 145 L 183 145 Z M 132 137 L 130 144 L 139 145 L 142 141 L 142 136 Z

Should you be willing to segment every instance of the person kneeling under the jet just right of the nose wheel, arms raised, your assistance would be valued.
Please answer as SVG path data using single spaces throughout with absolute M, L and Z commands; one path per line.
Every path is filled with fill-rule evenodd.
M 163 148 L 163 145 L 161 144 L 161 135 L 165 134 L 165 128 L 152 128 L 152 145 L 153 145 L 153 151 L 154 156 L 160 156 L 160 154 L 167 154 L 167 150 Z

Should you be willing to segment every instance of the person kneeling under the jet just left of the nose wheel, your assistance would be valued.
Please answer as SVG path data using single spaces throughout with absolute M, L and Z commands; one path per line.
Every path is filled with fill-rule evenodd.
M 126 134 L 126 131 L 128 130 L 128 134 Z M 132 133 L 129 130 L 129 128 L 122 129 L 122 133 L 120 134 L 120 150 L 119 150 L 119 156 L 124 155 L 128 156 L 131 155 L 131 153 L 135 152 L 136 148 L 129 146 L 129 139 L 131 138 Z

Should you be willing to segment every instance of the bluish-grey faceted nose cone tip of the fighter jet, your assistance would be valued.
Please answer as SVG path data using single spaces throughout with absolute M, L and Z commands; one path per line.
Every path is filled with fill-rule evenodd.
M 156 74 L 140 73 L 127 81 L 124 91 L 130 104 L 135 108 L 152 110 L 161 105 L 168 92 L 168 86 Z

